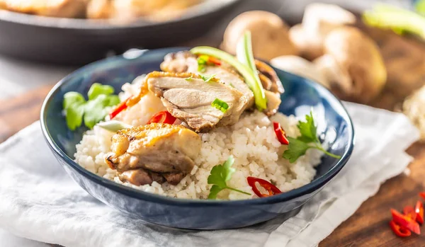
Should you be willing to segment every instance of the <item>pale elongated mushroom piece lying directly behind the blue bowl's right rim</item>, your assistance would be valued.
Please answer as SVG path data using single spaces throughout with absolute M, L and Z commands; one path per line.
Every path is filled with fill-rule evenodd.
M 305 78 L 316 81 L 323 86 L 330 88 L 329 81 L 327 81 L 322 71 L 317 69 L 315 64 L 302 57 L 297 57 L 293 55 L 280 56 L 271 59 L 271 65 L 278 69 L 288 71 L 290 73 L 296 74 L 298 76 L 303 76 Z

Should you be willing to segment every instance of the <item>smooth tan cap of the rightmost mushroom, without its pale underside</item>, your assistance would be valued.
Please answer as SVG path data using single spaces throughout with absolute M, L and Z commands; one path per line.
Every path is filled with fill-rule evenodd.
M 324 40 L 324 52 L 351 77 L 344 98 L 368 103 L 382 91 L 387 80 L 385 64 L 378 46 L 361 30 L 348 26 L 333 30 Z

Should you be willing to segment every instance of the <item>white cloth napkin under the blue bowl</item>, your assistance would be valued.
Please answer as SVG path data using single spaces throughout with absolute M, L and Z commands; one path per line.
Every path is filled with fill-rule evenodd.
M 48 149 L 39 122 L 0 145 L 0 227 L 62 246 L 317 246 L 380 184 L 402 173 L 418 137 L 404 115 L 346 103 L 356 147 L 346 167 L 297 216 L 244 229 L 188 231 L 125 216 L 91 197 Z M 227 220 L 227 219 L 223 219 Z

